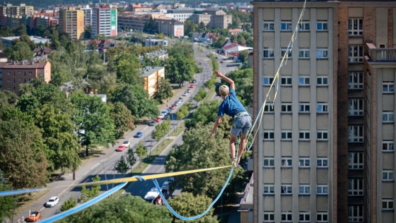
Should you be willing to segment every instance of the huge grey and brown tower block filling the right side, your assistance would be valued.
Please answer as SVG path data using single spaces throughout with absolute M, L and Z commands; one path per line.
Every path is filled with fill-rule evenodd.
M 257 115 L 303 1 L 252 4 Z M 395 46 L 396 1 L 307 0 L 257 129 L 247 222 L 396 222 Z

